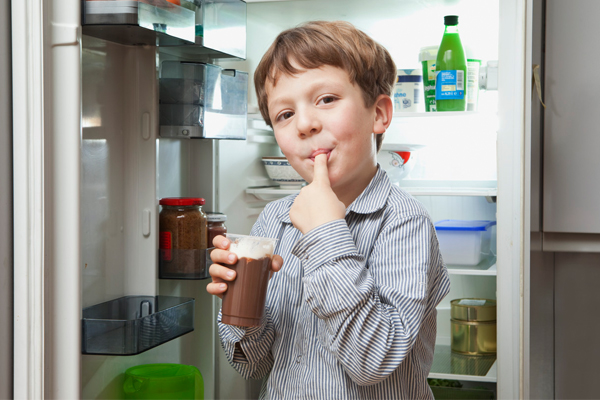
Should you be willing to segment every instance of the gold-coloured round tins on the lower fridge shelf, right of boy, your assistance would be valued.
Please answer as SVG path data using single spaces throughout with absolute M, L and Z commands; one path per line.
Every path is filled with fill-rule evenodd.
M 496 301 L 455 299 L 450 302 L 454 352 L 468 355 L 496 354 Z

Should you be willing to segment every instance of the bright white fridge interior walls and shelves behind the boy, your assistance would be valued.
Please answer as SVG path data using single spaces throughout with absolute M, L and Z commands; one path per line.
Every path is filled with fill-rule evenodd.
M 490 60 L 498 60 L 500 24 L 498 1 L 449 3 L 384 0 L 368 3 L 300 0 L 249 2 L 246 60 L 222 61 L 219 64 L 225 68 L 249 71 L 249 135 L 253 135 L 252 138 L 261 138 L 261 142 L 264 142 L 272 137 L 272 131 L 264 125 L 258 113 L 252 71 L 279 32 L 308 20 L 346 20 L 383 44 L 390 51 L 397 68 L 421 68 L 418 62 L 419 49 L 439 44 L 443 34 L 443 16 L 449 14 L 459 15 L 461 40 L 470 48 L 475 58 L 482 60 L 482 65 Z M 481 18 L 481 15 L 485 15 L 486 18 Z M 386 132 L 383 149 L 379 153 L 379 162 L 382 168 L 390 169 L 388 151 L 401 150 L 406 145 L 424 146 L 413 153 L 416 156 L 416 164 L 399 185 L 413 193 L 426 206 L 432 220 L 496 221 L 497 130 L 498 92 L 496 91 L 480 91 L 477 113 L 446 115 L 395 113 L 392 125 Z M 252 138 L 245 144 L 221 141 L 220 151 L 223 152 L 225 149 L 228 149 L 228 152 L 235 151 L 234 149 L 240 146 L 245 149 L 263 146 L 252 143 Z M 274 147 L 271 151 L 277 151 L 277 148 Z M 254 166 L 260 170 L 260 160 L 256 159 Z M 223 168 L 223 163 L 220 164 L 220 168 Z M 252 171 L 247 175 L 246 186 L 250 186 L 255 181 L 252 176 L 254 173 L 255 171 Z M 241 178 L 238 176 L 236 179 L 241 180 Z M 236 191 L 237 196 L 229 195 L 226 201 L 230 201 L 232 197 L 239 199 L 237 204 L 222 203 L 227 214 L 229 210 L 243 207 L 248 209 L 248 201 L 253 201 L 252 211 L 258 212 L 261 199 L 278 197 L 275 191 L 260 189 L 247 190 L 246 195 L 243 196 L 244 185 L 237 187 L 228 185 L 227 190 Z M 460 195 L 461 191 L 468 192 L 468 195 Z M 249 195 L 248 192 L 252 194 Z M 286 192 L 282 192 L 279 197 L 285 194 Z M 241 201 L 242 198 L 246 201 Z M 495 253 L 495 228 L 492 233 L 492 248 Z M 436 345 L 448 349 L 451 341 L 450 300 L 466 297 L 495 300 L 497 297 L 495 257 L 484 260 L 474 269 L 449 266 L 449 272 L 451 292 L 438 307 L 436 340 Z M 498 329 L 500 331 L 501 327 Z M 432 377 L 460 379 L 465 387 L 476 382 L 495 388 L 497 380 L 495 364 L 484 374 L 486 376 L 459 375 L 448 371 L 448 373 L 433 373 Z

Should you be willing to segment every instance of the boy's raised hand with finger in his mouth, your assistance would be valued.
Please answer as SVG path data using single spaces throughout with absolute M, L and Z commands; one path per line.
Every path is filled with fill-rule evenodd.
M 344 219 L 346 206 L 331 189 L 327 155 L 319 154 L 315 158 L 313 181 L 300 190 L 292 208 L 290 219 L 302 234 L 317 226 L 336 219 Z

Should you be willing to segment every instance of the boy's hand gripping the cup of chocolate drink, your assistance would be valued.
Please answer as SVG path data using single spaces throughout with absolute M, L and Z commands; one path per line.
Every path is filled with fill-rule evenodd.
M 228 251 L 230 244 L 231 242 L 225 236 L 219 235 L 213 239 L 215 249 L 210 253 L 210 258 L 214 264 L 210 266 L 208 272 L 213 281 L 206 285 L 206 291 L 219 298 L 223 298 L 223 293 L 227 291 L 227 282 L 235 280 L 235 270 L 220 265 L 234 265 L 237 262 L 235 253 Z M 271 261 L 271 271 L 279 271 L 282 265 L 283 258 L 275 254 Z

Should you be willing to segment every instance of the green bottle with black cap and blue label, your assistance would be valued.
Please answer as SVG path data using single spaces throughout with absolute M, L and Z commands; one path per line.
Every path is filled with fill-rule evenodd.
M 444 36 L 435 60 L 437 111 L 465 111 L 467 58 L 458 35 L 458 16 L 444 17 Z

